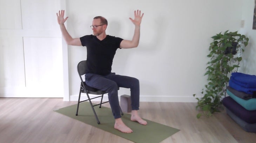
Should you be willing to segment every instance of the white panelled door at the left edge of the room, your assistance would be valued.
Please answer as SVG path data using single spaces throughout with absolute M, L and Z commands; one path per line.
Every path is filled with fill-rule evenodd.
M 0 0 L 0 97 L 63 97 L 61 0 Z

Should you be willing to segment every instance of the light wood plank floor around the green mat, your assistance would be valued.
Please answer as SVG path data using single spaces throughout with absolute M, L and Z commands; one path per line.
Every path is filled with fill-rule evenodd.
M 0 98 L 0 143 L 132 143 L 54 112 L 76 104 L 62 100 Z M 142 118 L 180 129 L 161 143 L 256 143 L 256 133 L 244 131 L 225 111 L 197 119 L 195 106 L 141 102 L 139 113 Z

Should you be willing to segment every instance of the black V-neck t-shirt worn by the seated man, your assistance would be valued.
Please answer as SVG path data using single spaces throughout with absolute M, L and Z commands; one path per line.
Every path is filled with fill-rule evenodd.
M 117 48 L 120 48 L 122 38 L 109 36 L 99 40 L 96 36 L 80 37 L 82 46 L 87 47 L 87 71 L 98 75 L 108 75 L 112 70 L 112 63 Z

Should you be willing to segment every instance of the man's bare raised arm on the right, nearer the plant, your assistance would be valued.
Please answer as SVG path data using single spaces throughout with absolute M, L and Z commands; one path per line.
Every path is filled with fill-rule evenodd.
M 122 40 L 120 48 L 135 48 L 139 45 L 140 41 L 140 24 L 144 13 L 141 15 L 140 10 L 134 11 L 134 20 L 129 18 L 135 25 L 134 35 L 132 40 Z

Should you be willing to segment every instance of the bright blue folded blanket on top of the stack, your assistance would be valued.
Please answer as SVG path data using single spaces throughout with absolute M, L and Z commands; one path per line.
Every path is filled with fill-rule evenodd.
M 256 88 L 256 76 L 243 73 L 232 73 L 230 79 L 234 83 L 243 86 L 245 88 Z

